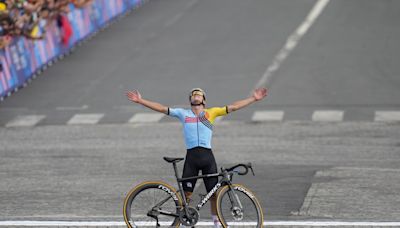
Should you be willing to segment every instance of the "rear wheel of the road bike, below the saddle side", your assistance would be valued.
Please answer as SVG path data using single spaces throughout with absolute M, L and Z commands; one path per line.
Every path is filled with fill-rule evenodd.
M 163 182 L 144 182 L 132 189 L 124 201 L 124 219 L 129 228 L 178 227 L 182 205 L 176 190 Z

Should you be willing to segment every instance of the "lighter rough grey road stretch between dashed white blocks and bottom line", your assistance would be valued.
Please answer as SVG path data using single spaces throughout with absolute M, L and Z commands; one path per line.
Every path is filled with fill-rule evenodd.
M 1 128 L 0 218 L 122 221 L 134 185 L 174 183 L 162 156 L 185 155 L 181 134 L 178 123 Z M 253 163 L 256 176 L 235 181 L 267 221 L 398 221 L 399 138 L 399 124 L 230 122 L 213 142 L 219 166 Z

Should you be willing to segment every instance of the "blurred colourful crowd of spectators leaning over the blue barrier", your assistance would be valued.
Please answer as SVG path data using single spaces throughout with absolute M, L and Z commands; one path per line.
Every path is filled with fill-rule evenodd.
M 43 39 L 46 25 L 56 21 L 67 45 L 72 35 L 71 24 L 66 17 L 69 4 L 81 8 L 93 0 L 0 0 L 0 49 L 9 45 L 13 37 Z

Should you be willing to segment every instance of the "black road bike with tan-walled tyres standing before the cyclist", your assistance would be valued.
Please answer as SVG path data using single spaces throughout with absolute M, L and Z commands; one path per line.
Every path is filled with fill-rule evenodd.
M 135 186 L 124 201 L 124 220 L 129 228 L 135 227 L 179 227 L 180 224 L 194 227 L 199 219 L 199 210 L 215 193 L 217 216 L 221 225 L 227 227 L 262 227 L 263 212 L 256 196 L 248 188 L 233 184 L 234 174 L 254 175 L 251 163 L 237 164 L 230 168 L 221 167 L 221 172 L 187 178 L 179 178 L 176 163 L 184 158 L 164 157 L 172 163 L 178 190 L 162 181 L 146 181 Z M 193 179 L 222 177 L 195 206 L 189 206 L 182 182 Z

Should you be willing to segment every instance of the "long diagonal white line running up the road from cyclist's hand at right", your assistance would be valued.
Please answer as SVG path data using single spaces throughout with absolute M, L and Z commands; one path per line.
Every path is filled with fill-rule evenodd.
M 329 0 L 318 0 L 314 7 L 311 9 L 306 19 L 300 24 L 300 26 L 288 37 L 285 45 L 275 56 L 271 65 L 268 66 L 267 70 L 257 82 L 255 88 L 268 86 L 271 81 L 271 76 L 275 71 L 277 71 L 285 59 L 290 55 L 293 49 L 297 46 L 300 39 L 306 34 L 308 29 L 312 26 L 318 16 L 322 13 Z M 253 92 L 250 93 L 252 95 Z

